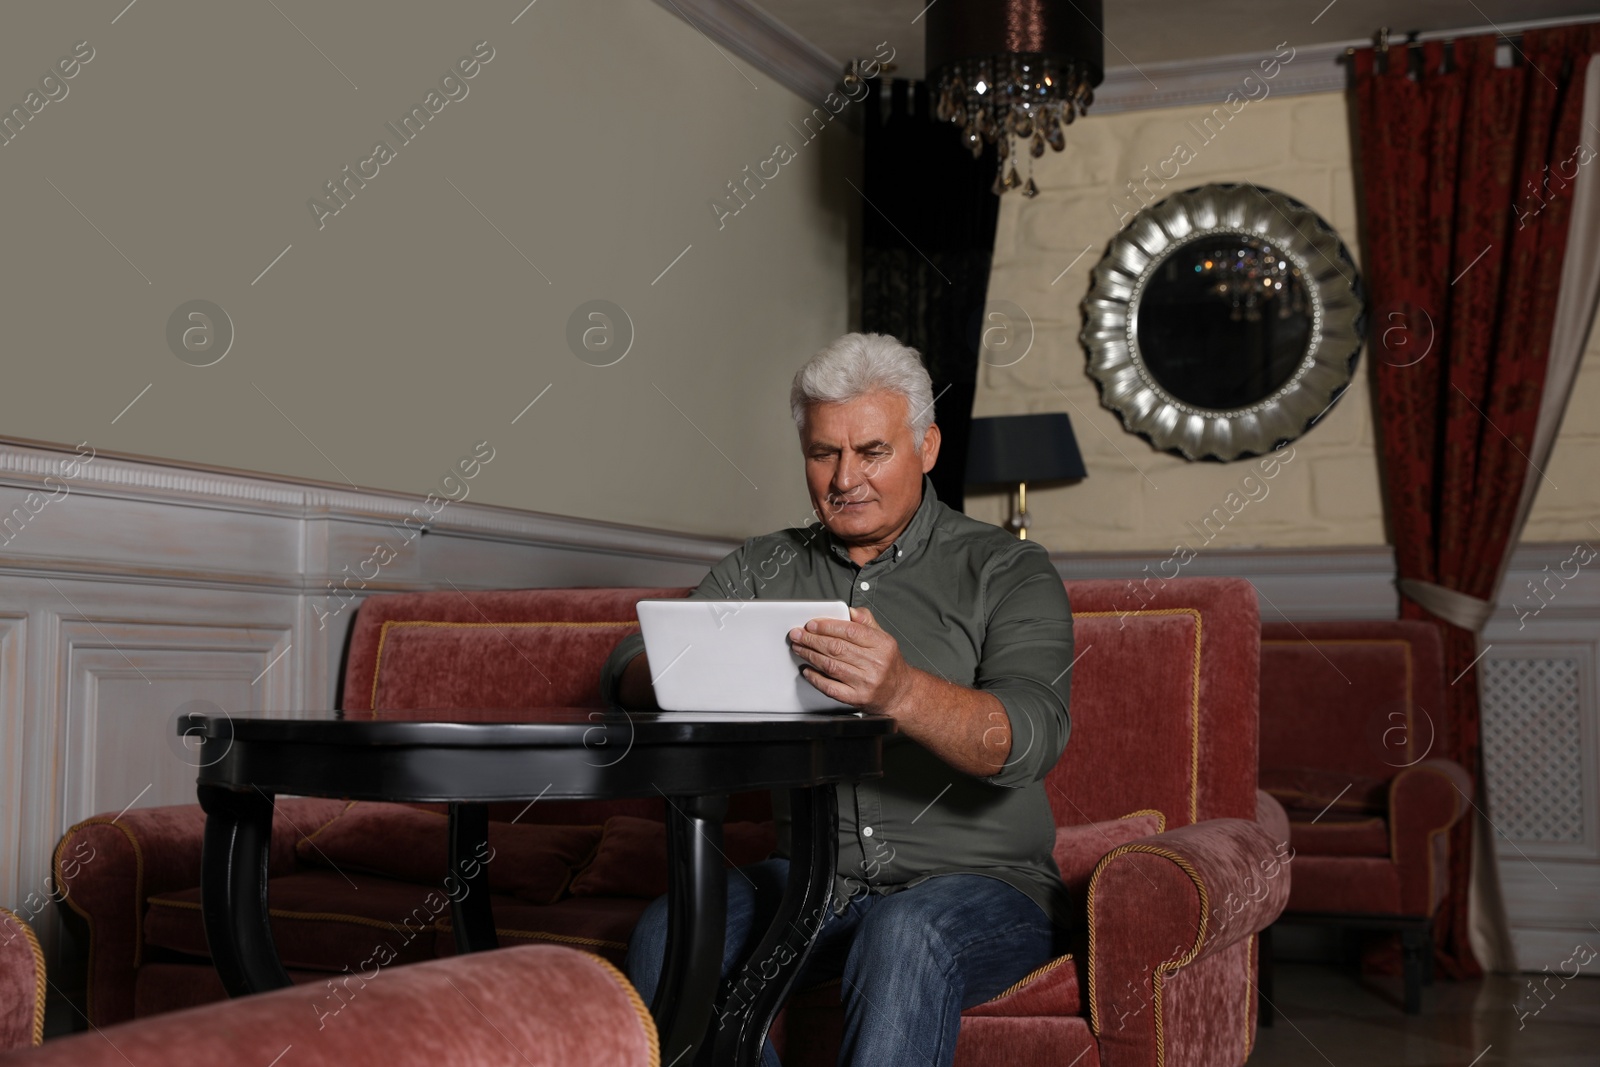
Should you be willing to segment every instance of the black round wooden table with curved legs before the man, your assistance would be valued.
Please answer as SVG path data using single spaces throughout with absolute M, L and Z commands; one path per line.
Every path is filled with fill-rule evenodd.
M 206 813 L 200 902 L 211 960 L 232 997 L 290 985 L 267 915 L 277 793 L 448 803 L 450 870 L 467 886 L 459 899 L 451 894 L 461 952 L 498 947 L 488 869 L 470 862 L 488 841 L 490 801 L 659 795 L 667 801 L 669 918 L 651 1013 L 662 1062 L 754 1067 L 832 897 L 832 785 L 882 774 L 893 729 L 878 715 L 595 709 L 184 717 L 178 731 L 198 742 Z M 789 885 L 750 957 L 760 973 L 752 965 L 722 985 L 722 822 L 730 793 L 760 789 L 790 790 Z

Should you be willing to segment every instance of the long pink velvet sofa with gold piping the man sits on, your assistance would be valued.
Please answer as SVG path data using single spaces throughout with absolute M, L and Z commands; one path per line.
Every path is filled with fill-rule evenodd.
M 368 598 L 342 707 L 598 705 L 606 653 L 643 597 L 683 589 L 549 589 Z M 1290 891 L 1282 808 L 1256 792 L 1259 619 L 1243 581 L 1067 582 L 1080 661 L 1072 741 L 1050 776 L 1056 857 L 1082 894 L 1082 945 L 966 1013 L 962 1064 L 1242 1064 L 1254 1033 L 1256 931 Z M 443 824 L 426 806 L 280 798 L 269 904 L 290 976 L 328 982 L 371 958 L 454 952 L 442 902 Z M 664 889 L 661 801 L 494 806 L 502 945 L 554 942 L 613 961 Z M 731 862 L 771 848 L 765 795 L 734 798 Z M 90 942 L 98 1025 L 222 997 L 198 913 L 197 806 L 90 819 L 58 848 L 58 883 Z M 94 849 L 75 872 L 61 857 Z M 506 877 L 498 877 L 501 872 Z M 70 877 L 69 877 L 70 875 Z M 414 917 L 414 918 L 413 918 Z M 421 921 L 427 920 L 427 921 Z M 832 1062 L 837 987 L 802 993 L 774 1040 Z M 787 1033 L 787 1040 L 784 1035 Z

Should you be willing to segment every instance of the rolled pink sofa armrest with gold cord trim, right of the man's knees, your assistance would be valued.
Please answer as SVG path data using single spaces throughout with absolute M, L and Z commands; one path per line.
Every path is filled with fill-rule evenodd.
M 1112 1043 L 1117 1062 L 1158 1062 L 1163 982 L 1269 926 L 1288 904 L 1291 857 L 1256 822 L 1208 819 L 1101 859 L 1088 893 L 1088 982 L 1102 1051 Z M 1130 1024 L 1144 1011 L 1154 1027 Z

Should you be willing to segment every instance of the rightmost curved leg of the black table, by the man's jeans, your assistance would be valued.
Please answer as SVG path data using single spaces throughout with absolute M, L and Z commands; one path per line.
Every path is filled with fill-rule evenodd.
M 715 1064 L 760 1064 L 766 1030 L 827 920 L 838 865 L 838 795 L 832 785 L 795 789 L 789 811 L 789 885 L 762 944 L 723 990 Z

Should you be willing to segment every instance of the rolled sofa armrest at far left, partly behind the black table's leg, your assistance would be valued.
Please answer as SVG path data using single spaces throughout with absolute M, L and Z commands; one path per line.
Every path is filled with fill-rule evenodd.
M 294 841 L 344 811 L 342 800 L 278 800 L 272 819 L 274 873 L 296 869 Z M 133 979 L 144 955 L 144 907 L 152 896 L 200 885 L 200 805 L 134 808 L 78 822 L 56 845 L 61 902 L 88 925 L 88 1005 L 94 1025 L 133 1017 Z

